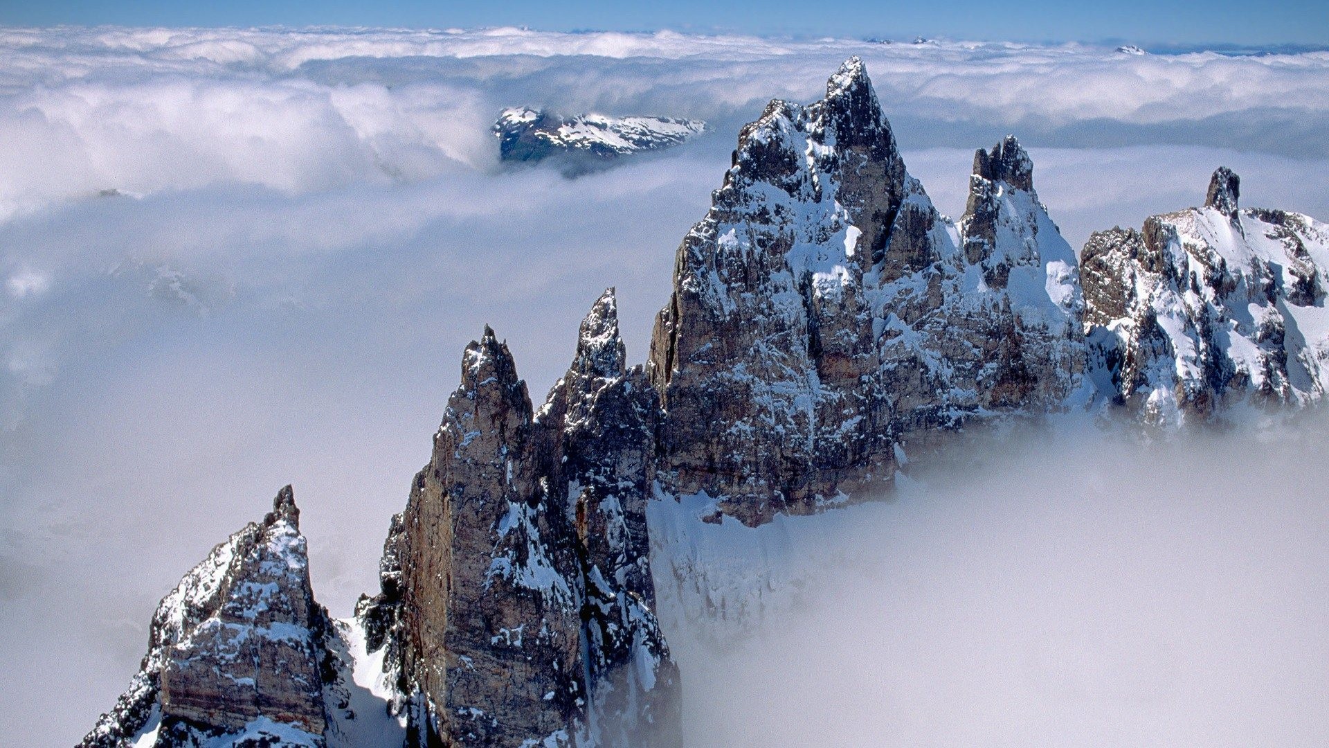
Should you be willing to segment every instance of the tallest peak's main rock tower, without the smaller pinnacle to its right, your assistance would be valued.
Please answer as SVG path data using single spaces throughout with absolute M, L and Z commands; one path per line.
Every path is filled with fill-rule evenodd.
M 908 190 L 863 64 L 811 106 L 772 101 L 743 128 L 714 205 L 678 250 L 650 371 L 667 413 L 668 484 L 748 523 L 889 484 L 890 405 L 864 276 L 914 268 L 888 242 Z

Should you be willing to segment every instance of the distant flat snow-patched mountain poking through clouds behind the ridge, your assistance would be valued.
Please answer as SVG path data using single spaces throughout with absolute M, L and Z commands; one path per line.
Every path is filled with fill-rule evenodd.
M 706 122 L 672 117 L 609 117 L 518 106 L 504 109 L 494 122 L 502 161 L 561 158 L 571 170 L 602 166 L 623 156 L 662 150 L 700 134 Z

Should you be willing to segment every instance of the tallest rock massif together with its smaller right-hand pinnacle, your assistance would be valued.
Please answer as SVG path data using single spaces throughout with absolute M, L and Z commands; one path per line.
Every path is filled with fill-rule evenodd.
M 1065 407 L 1082 301 L 1031 169 L 1014 138 L 979 152 L 956 226 L 906 173 L 861 61 L 816 104 L 772 101 L 657 319 L 667 490 L 756 524 L 888 487 L 900 441 Z

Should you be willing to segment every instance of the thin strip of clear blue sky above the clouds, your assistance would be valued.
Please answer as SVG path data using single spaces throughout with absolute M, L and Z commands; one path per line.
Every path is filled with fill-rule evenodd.
M 549 31 L 735 31 L 759 35 L 837 35 L 905 39 L 916 35 L 981 40 L 1134 41 L 1154 47 L 1329 43 L 1329 4 L 1322 0 L 1260 3 L 1116 0 L 1071 4 L 1049 0 L 997 3 L 678 0 L 638 4 L 605 0 L 0 0 L 9 25 L 529 25 Z

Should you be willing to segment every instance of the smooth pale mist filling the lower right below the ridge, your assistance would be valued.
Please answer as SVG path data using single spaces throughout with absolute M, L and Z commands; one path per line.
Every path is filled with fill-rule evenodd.
M 661 603 L 687 744 L 1321 744 L 1324 415 L 961 441 L 889 503 L 750 531 L 769 615 Z

